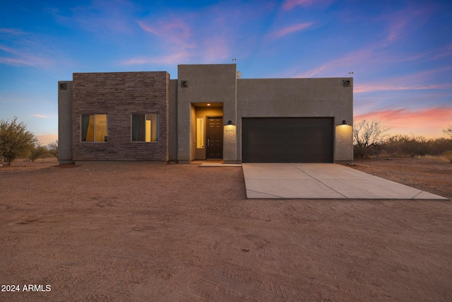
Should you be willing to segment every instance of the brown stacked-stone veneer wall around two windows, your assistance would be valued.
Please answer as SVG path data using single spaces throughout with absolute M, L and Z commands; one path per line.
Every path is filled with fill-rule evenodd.
M 131 141 L 131 115 L 157 113 L 157 142 Z M 81 141 L 81 115 L 107 115 L 107 142 Z M 74 161 L 167 161 L 166 71 L 73 74 Z

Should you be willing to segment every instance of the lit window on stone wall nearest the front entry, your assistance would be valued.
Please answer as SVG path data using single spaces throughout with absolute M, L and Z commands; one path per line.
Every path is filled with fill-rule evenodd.
M 158 115 L 132 115 L 132 141 L 158 141 Z

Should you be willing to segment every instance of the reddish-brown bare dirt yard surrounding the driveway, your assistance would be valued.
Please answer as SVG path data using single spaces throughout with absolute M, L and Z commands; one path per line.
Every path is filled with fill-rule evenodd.
M 355 163 L 452 198 L 451 163 Z M 246 199 L 240 167 L 56 164 L 0 168 L 0 301 L 452 301 L 450 201 Z

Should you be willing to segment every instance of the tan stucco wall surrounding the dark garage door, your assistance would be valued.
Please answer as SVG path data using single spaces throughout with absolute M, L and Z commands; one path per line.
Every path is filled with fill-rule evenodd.
M 353 85 L 344 87 L 343 79 L 238 79 L 237 132 L 242 129 L 242 117 L 334 117 L 335 125 L 343 120 L 351 125 Z M 333 131 L 334 161 L 352 161 L 351 134 Z M 237 136 L 237 161 L 242 161 L 241 135 Z

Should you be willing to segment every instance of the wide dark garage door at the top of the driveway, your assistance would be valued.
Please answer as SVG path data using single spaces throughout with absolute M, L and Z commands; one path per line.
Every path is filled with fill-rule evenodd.
M 243 117 L 242 162 L 332 163 L 333 118 Z

